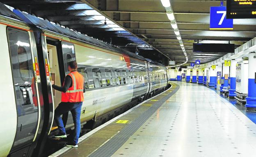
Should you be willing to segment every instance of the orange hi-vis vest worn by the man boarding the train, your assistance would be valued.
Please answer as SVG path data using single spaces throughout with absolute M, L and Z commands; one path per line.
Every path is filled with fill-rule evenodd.
M 62 92 L 62 102 L 83 102 L 84 101 L 84 77 L 77 71 L 68 74 L 72 78 L 72 86 Z

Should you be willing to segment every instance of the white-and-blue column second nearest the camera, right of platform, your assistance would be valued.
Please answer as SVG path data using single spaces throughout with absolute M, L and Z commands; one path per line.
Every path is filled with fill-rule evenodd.
M 229 73 L 229 77 L 230 77 L 230 89 L 229 89 L 229 98 L 232 99 L 236 96 L 235 94 L 235 77 L 236 77 L 236 60 L 231 60 L 230 61 L 230 73 Z

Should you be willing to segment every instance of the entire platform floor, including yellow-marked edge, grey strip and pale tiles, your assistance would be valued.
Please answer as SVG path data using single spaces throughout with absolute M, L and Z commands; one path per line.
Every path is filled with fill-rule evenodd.
M 50 157 L 249 157 L 256 124 L 203 85 L 173 86 Z M 81 141 L 84 139 L 83 141 Z

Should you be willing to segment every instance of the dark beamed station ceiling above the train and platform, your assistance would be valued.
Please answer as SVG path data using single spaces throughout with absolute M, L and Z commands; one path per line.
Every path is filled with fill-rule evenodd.
M 144 57 L 185 62 L 185 56 L 160 0 L 0 0 L 21 11 L 111 42 Z M 256 37 L 256 19 L 234 19 L 229 31 L 209 30 L 210 7 L 220 0 L 170 0 L 188 62 L 202 63 L 226 53 L 193 53 L 193 43 L 231 43 Z M 224 1 L 224 6 L 225 6 Z M 137 48 L 137 49 L 136 49 Z M 150 58 L 150 57 L 149 57 Z

